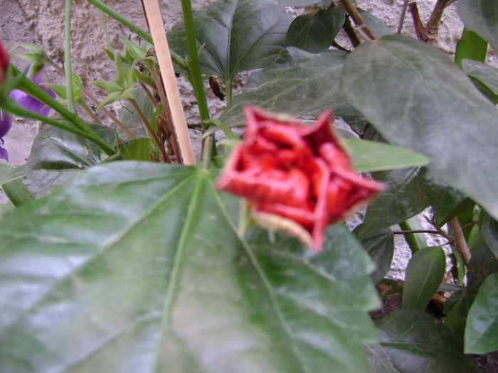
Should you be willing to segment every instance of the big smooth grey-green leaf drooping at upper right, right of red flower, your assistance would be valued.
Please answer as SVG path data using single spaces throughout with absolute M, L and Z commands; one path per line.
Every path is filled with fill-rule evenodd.
M 498 218 L 497 110 L 445 53 L 402 36 L 363 43 L 341 87 L 384 139 L 428 156 L 430 171 Z

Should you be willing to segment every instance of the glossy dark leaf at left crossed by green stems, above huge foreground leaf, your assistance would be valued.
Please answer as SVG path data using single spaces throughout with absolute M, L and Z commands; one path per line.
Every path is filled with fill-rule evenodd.
M 116 131 L 107 126 L 89 124 L 110 146 L 115 146 Z M 75 173 L 102 161 L 100 148 L 92 141 L 49 127 L 36 136 L 24 170 L 28 190 L 35 198 L 51 193 Z

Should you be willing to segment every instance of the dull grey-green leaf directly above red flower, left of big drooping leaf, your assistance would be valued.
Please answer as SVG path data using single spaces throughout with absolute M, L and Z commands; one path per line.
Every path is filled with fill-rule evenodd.
M 275 63 L 250 76 L 220 120 L 227 126 L 242 125 L 248 103 L 294 116 L 332 106 L 342 97 L 339 77 L 346 55 L 339 50 L 312 54 L 285 48 Z

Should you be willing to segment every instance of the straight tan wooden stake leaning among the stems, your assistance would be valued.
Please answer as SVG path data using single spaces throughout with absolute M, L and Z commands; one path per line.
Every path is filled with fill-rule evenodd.
M 176 76 L 174 74 L 173 62 L 169 53 L 168 40 L 164 31 L 164 24 L 161 16 L 161 8 L 159 0 L 144 0 L 145 16 L 149 22 L 152 40 L 154 40 L 154 48 L 156 48 L 157 60 L 161 69 L 161 77 L 166 89 L 169 108 L 171 109 L 171 117 L 178 136 L 180 144 L 181 157 L 184 158 L 184 163 L 189 166 L 196 163 L 196 157 L 192 150 L 190 141 L 189 129 L 186 124 L 184 107 L 181 104 L 180 92 L 176 85 Z

